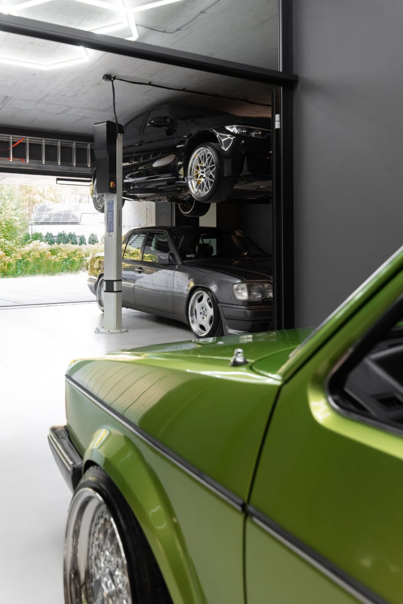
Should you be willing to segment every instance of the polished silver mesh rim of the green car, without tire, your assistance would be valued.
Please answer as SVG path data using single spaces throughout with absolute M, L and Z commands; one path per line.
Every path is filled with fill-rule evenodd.
M 123 545 L 102 496 L 88 487 L 71 500 L 64 550 L 66 604 L 132 604 Z

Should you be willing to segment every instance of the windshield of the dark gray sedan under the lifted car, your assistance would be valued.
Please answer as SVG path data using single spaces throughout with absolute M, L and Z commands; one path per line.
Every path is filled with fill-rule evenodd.
M 175 229 L 172 237 L 182 262 L 205 258 L 245 258 L 267 255 L 240 231 L 195 228 Z

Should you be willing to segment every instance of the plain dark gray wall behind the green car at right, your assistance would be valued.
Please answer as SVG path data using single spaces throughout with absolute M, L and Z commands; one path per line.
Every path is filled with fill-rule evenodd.
M 294 2 L 295 324 L 403 244 L 403 2 Z

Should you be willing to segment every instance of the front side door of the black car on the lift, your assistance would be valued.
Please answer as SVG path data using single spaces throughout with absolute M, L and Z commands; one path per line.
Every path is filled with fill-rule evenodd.
M 150 111 L 135 146 L 134 161 L 136 179 L 160 179 L 160 184 L 176 180 L 176 124 L 167 109 Z

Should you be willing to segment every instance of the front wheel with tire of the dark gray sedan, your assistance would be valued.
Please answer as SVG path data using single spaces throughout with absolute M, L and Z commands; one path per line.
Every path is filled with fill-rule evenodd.
M 198 309 L 195 307 L 196 304 Z M 212 312 L 211 321 L 209 321 L 210 312 Z M 210 289 L 198 287 L 192 289 L 187 302 L 187 319 L 190 329 L 197 338 L 216 338 L 224 333 L 218 303 Z

